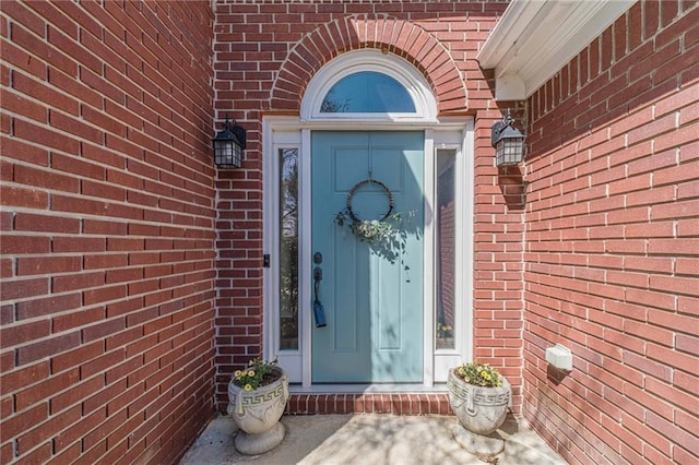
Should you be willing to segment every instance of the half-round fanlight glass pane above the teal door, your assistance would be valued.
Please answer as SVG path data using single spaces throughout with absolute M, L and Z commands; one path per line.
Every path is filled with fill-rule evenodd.
M 322 114 L 415 112 L 415 104 L 398 81 L 386 74 L 363 71 L 341 79 L 323 103 Z

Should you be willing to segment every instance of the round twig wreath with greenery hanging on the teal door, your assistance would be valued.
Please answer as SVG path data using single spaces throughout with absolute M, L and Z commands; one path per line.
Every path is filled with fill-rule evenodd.
M 389 200 L 388 211 L 380 219 L 359 218 L 352 210 L 352 198 L 354 194 L 359 189 L 370 184 L 379 187 Z M 363 242 L 390 246 L 394 243 L 398 238 L 404 236 L 404 231 L 396 227 L 401 222 L 402 215 L 400 213 L 392 214 L 392 212 L 393 193 L 391 190 L 383 182 L 369 178 L 357 182 L 350 190 L 345 208 L 335 215 L 335 224 L 341 227 L 346 226 L 350 231 Z

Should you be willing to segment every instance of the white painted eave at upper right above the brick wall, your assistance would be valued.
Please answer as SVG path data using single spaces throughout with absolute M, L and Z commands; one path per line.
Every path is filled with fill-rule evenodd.
M 495 70 L 495 98 L 528 98 L 635 2 L 512 0 L 476 57 Z

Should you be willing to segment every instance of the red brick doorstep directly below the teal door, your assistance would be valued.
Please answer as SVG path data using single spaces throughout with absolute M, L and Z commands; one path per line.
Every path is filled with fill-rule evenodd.
M 453 415 L 448 393 L 292 393 L 286 415 Z

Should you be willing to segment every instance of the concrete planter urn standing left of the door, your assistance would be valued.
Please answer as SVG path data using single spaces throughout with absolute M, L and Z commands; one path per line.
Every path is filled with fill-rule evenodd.
M 240 432 L 236 436 L 236 450 L 245 455 L 258 455 L 276 448 L 284 439 L 284 425 L 280 422 L 288 401 L 288 375 L 274 366 L 270 384 L 250 391 L 228 383 L 228 415 Z

